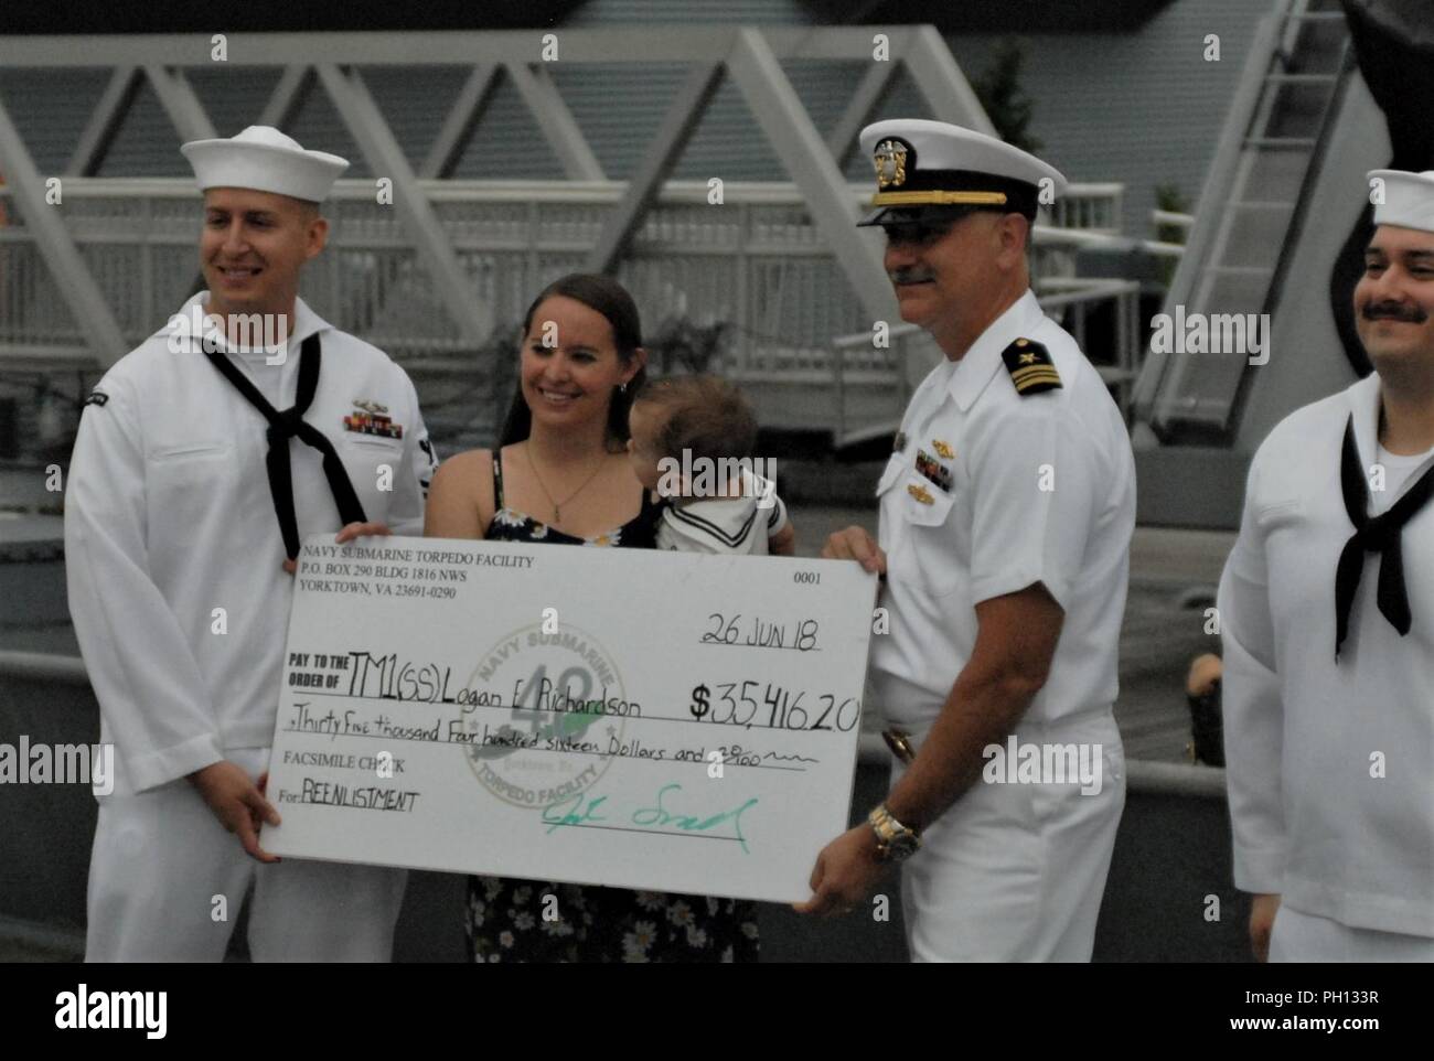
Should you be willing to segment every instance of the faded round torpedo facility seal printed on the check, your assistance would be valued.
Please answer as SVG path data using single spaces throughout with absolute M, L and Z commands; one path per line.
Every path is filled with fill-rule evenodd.
M 535 622 L 500 638 L 466 685 L 502 694 L 502 705 L 469 713 L 463 756 L 515 807 L 539 810 L 597 784 L 621 754 L 628 715 L 641 715 L 611 654 L 569 624 L 545 634 Z

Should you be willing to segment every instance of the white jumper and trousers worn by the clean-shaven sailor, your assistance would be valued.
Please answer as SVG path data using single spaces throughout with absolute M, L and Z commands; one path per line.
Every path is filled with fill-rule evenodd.
M 300 344 L 317 333 L 323 368 L 304 419 L 333 440 L 369 519 L 420 533 L 433 459 L 413 384 L 303 300 L 293 328 L 281 366 L 229 356 L 288 409 Z M 267 769 L 293 576 L 281 568 L 267 423 L 196 343 L 184 346 L 172 353 L 166 328 L 105 374 L 70 463 L 70 615 L 116 758 L 113 793 L 99 797 L 86 958 L 218 961 L 252 885 L 257 961 L 389 961 L 403 870 L 260 865 L 185 780 L 221 758 L 255 779 Z M 357 401 L 387 406 L 402 439 L 346 430 L 344 417 L 363 413 Z M 337 532 L 320 453 L 297 439 L 290 447 L 300 533 Z M 215 896 L 227 920 L 214 919 Z

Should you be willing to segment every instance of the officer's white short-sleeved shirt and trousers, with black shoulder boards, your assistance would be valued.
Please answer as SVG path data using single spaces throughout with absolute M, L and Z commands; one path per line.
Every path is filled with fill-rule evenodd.
M 1047 348 L 1058 390 L 1017 393 L 1002 351 L 1018 338 Z M 1136 512 L 1126 426 L 1027 291 L 932 370 L 902 433 L 878 486 L 891 632 L 872 638 L 875 703 L 919 754 L 971 658 L 975 605 L 1041 582 L 1064 627 L 1015 736 L 1097 744 L 1103 774 L 1093 794 L 982 780 L 932 823 L 902 865 L 912 959 L 1088 961 L 1126 790 L 1111 714 Z M 949 489 L 918 470 L 919 455 L 949 472 Z

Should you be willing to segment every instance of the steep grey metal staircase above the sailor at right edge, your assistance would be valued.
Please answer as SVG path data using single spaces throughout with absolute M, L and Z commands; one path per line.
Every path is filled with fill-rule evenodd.
M 1246 60 L 1163 313 L 1271 314 L 1352 69 L 1338 0 L 1276 0 Z M 1212 328 L 1212 336 L 1215 328 Z M 1268 331 L 1265 333 L 1268 340 Z M 1134 419 L 1166 444 L 1228 444 L 1246 351 L 1149 353 Z

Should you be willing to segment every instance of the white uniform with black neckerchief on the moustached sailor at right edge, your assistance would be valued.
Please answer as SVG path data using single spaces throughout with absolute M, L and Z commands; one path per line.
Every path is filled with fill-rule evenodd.
M 1335 662 L 1335 565 L 1354 533 L 1341 447 L 1369 470 L 1380 377 L 1285 417 L 1250 465 L 1220 581 L 1235 885 L 1278 893 L 1271 961 L 1434 961 L 1434 503 L 1402 529 L 1412 624 L 1365 553 Z M 1385 457 L 1388 509 L 1434 465 Z

